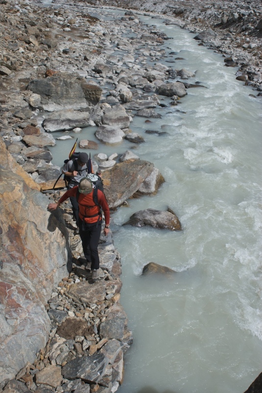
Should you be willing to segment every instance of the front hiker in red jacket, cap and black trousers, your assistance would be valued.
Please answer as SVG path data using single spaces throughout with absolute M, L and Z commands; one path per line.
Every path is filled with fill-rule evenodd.
M 68 190 L 57 203 L 50 203 L 48 209 L 55 210 L 61 203 L 69 197 L 75 197 L 79 205 L 79 235 L 82 240 L 82 247 L 85 258 L 91 262 L 92 279 L 97 281 L 99 269 L 99 255 L 98 255 L 98 242 L 101 234 L 102 224 L 102 208 L 105 216 L 104 234 L 107 236 L 109 233 L 110 212 L 107 200 L 100 190 L 97 191 L 97 199 L 99 205 L 96 205 L 93 199 L 93 185 L 92 181 L 84 178 L 80 181 L 79 187 L 75 186 Z M 78 194 L 79 192 L 79 194 Z

